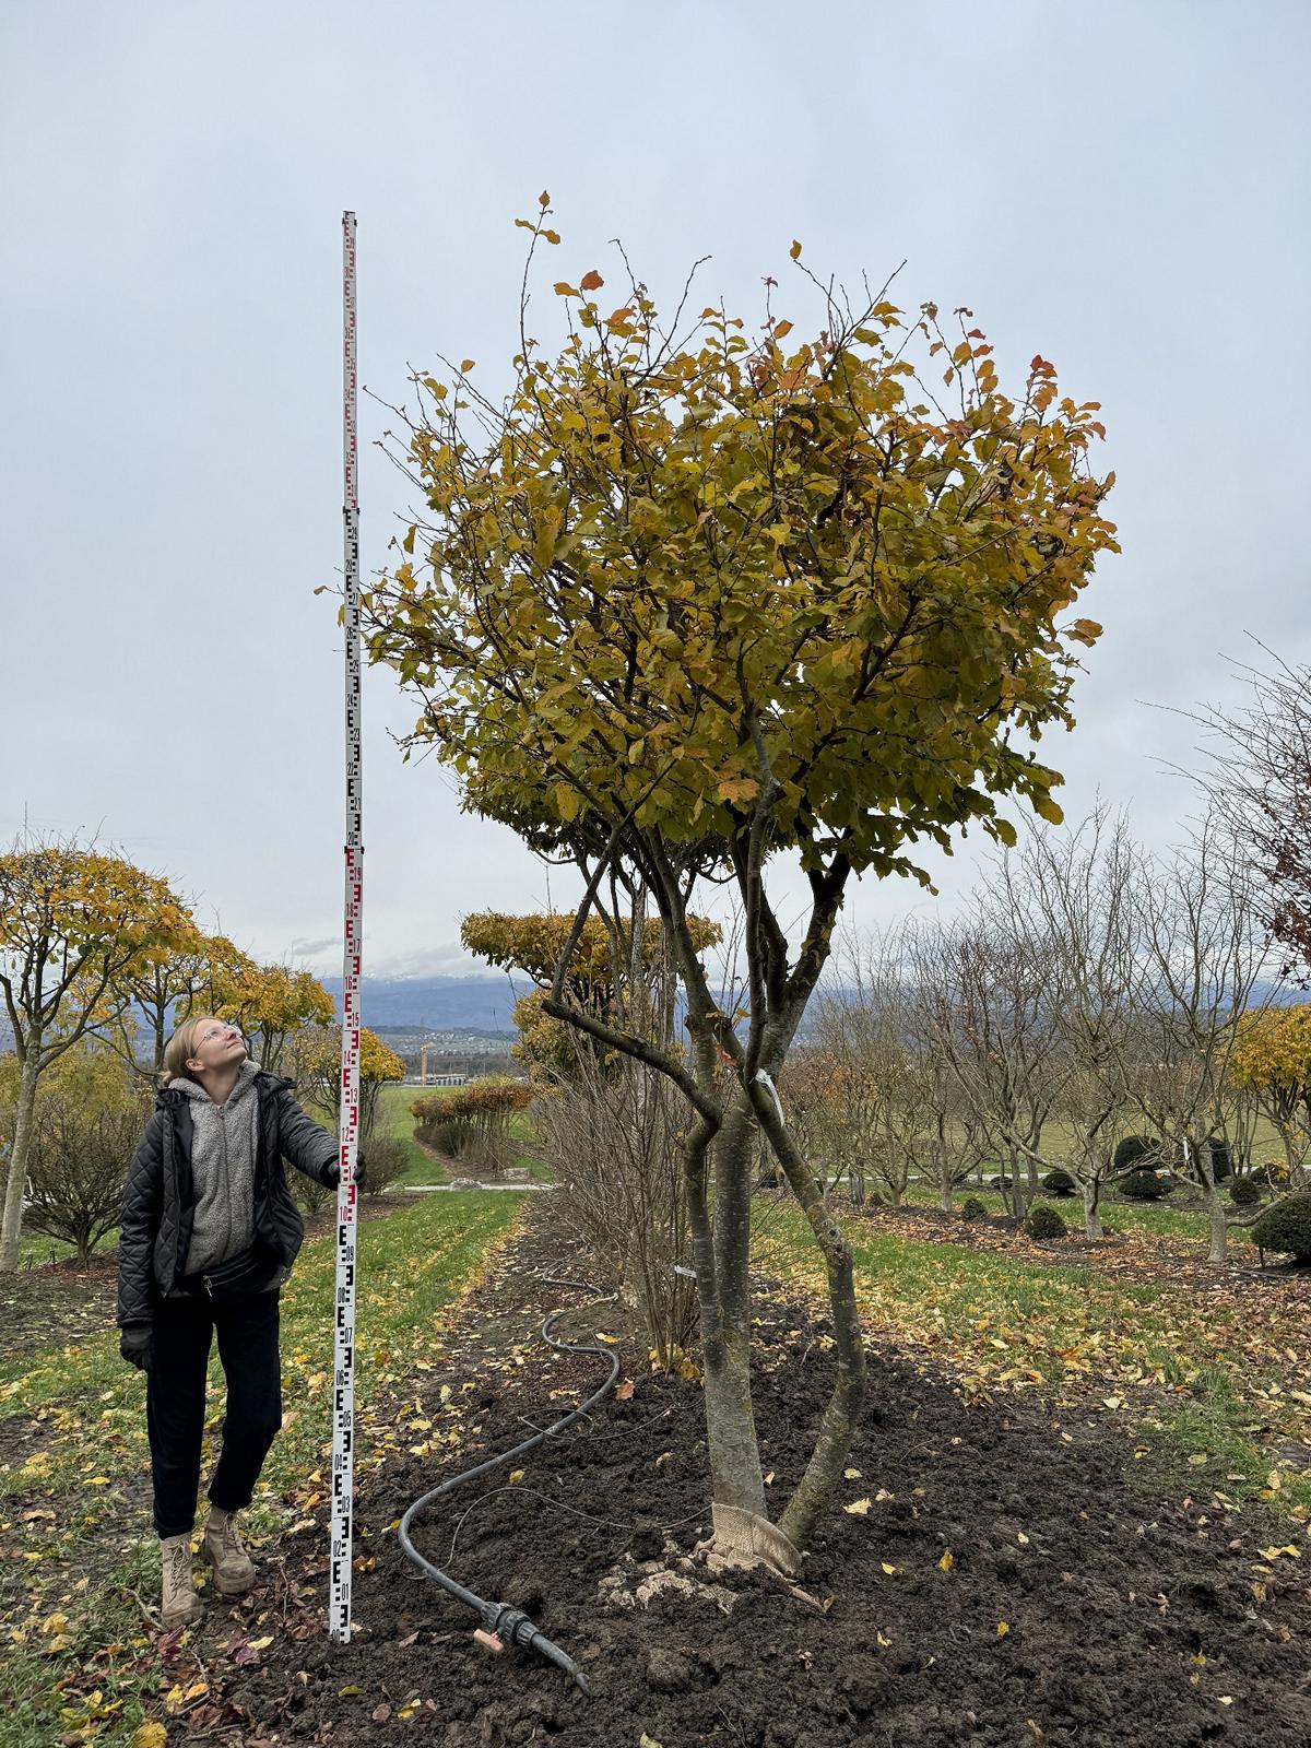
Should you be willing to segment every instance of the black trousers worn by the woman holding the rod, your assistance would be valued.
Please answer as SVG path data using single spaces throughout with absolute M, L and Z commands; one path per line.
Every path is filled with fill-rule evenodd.
M 210 1339 L 227 1379 L 222 1453 L 210 1479 L 210 1503 L 241 1510 L 250 1498 L 281 1426 L 278 1358 L 280 1294 L 245 1294 L 227 1302 L 164 1299 L 154 1320 L 154 1363 L 145 1383 L 150 1437 L 154 1526 L 161 1536 L 187 1535 L 196 1524 L 205 1437 L 205 1374 Z

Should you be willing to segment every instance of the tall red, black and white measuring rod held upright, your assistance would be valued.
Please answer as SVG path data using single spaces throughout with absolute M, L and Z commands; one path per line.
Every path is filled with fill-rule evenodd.
M 351 1636 L 351 1503 L 355 1477 L 355 1166 L 360 1141 L 360 475 L 355 442 L 355 213 L 341 215 L 343 454 L 346 491 L 346 928 L 341 979 L 341 1127 L 337 1187 L 337 1334 L 332 1362 L 332 1557 L 329 1633 Z

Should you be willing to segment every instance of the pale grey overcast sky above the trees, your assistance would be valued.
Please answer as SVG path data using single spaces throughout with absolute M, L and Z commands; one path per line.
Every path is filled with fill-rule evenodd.
M 341 212 L 367 575 L 413 502 L 386 406 L 439 353 L 505 381 L 542 189 L 552 276 L 619 236 L 657 301 L 710 255 L 704 301 L 773 274 L 804 315 L 794 238 L 846 283 L 904 260 L 1003 385 L 1040 351 L 1103 404 L 1124 551 L 1045 757 L 1068 815 L 1176 839 L 1185 713 L 1241 701 L 1253 638 L 1311 659 L 1309 52 L 1306 0 L 5 0 L 0 844 L 96 836 L 259 958 L 341 968 Z M 365 676 L 374 975 L 474 970 L 468 911 L 577 890 L 400 760 L 416 715 Z M 981 848 L 844 921 L 961 904 Z

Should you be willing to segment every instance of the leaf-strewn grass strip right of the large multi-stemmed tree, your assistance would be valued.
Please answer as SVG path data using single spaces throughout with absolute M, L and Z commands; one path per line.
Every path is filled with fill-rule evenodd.
M 1302 1519 L 1311 1510 L 1306 1461 L 1278 1460 L 1285 1440 L 1311 1446 L 1306 1299 L 1295 1288 L 1199 1292 L 1124 1281 L 1073 1259 L 926 1243 L 864 1220 L 846 1231 L 865 1328 L 876 1342 L 946 1363 L 967 1402 L 1038 1390 L 1058 1412 L 1112 1412 L 1140 1428 L 1138 1460 L 1164 1484 L 1260 1498 Z M 822 1295 L 799 1210 L 771 1210 L 757 1257 Z

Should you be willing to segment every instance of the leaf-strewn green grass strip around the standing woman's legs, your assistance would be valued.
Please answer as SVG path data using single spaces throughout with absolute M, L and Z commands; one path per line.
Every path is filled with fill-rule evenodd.
M 434 1365 L 444 1309 L 514 1229 L 521 1203 L 514 1194 L 425 1196 L 360 1227 L 357 1474 L 413 1442 L 413 1377 Z M 325 1493 L 334 1281 L 332 1238 L 309 1239 L 281 1299 L 283 1430 L 243 1514 L 255 1543 L 302 1533 L 306 1510 Z M 5 1748 L 47 1748 L 79 1729 L 117 1748 L 161 1715 L 163 1671 L 129 1594 L 157 1599 L 159 1589 L 145 1379 L 124 1365 L 117 1342 L 117 1330 L 98 1328 L 0 1360 L 0 1433 L 10 1416 L 35 1416 L 44 1430 L 30 1460 L 0 1468 Z M 217 1351 L 210 1383 L 203 1475 L 217 1456 L 222 1411 Z M 432 1439 L 456 1437 L 454 1426 Z M 379 1528 L 362 1512 L 360 1545 Z

